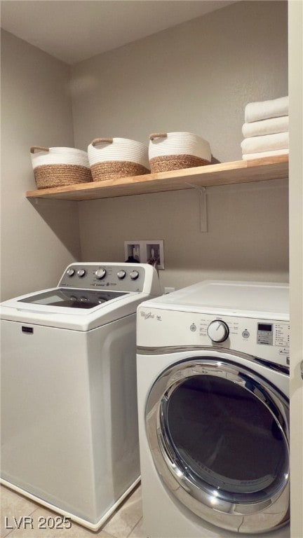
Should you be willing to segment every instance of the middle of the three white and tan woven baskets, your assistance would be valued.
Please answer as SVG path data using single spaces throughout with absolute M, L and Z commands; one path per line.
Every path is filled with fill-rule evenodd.
M 93 181 L 149 174 L 147 146 L 127 138 L 95 138 L 88 160 Z

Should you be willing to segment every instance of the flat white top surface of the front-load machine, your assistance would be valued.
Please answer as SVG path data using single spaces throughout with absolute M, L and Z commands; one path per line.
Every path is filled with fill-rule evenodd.
M 166 310 L 289 319 L 289 287 L 278 282 L 204 280 L 149 301 Z

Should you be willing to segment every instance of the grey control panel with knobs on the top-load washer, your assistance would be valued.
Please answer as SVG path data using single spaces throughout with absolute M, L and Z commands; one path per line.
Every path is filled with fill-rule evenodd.
M 63 273 L 58 287 L 142 291 L 144 278 L 142 265 L 73 263 Z

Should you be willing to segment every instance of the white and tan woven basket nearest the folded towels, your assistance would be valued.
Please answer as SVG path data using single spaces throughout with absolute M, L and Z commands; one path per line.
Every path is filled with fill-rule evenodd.
M 209 165 L 210 145 L 191 132 L 154 132 L 149 135 L 151 172 Z

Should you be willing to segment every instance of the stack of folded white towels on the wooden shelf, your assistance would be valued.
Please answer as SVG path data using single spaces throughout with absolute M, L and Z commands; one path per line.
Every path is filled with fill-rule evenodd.
M 288 96 L 248 103 L 242 127 L 242 158 L 288 155 Z

